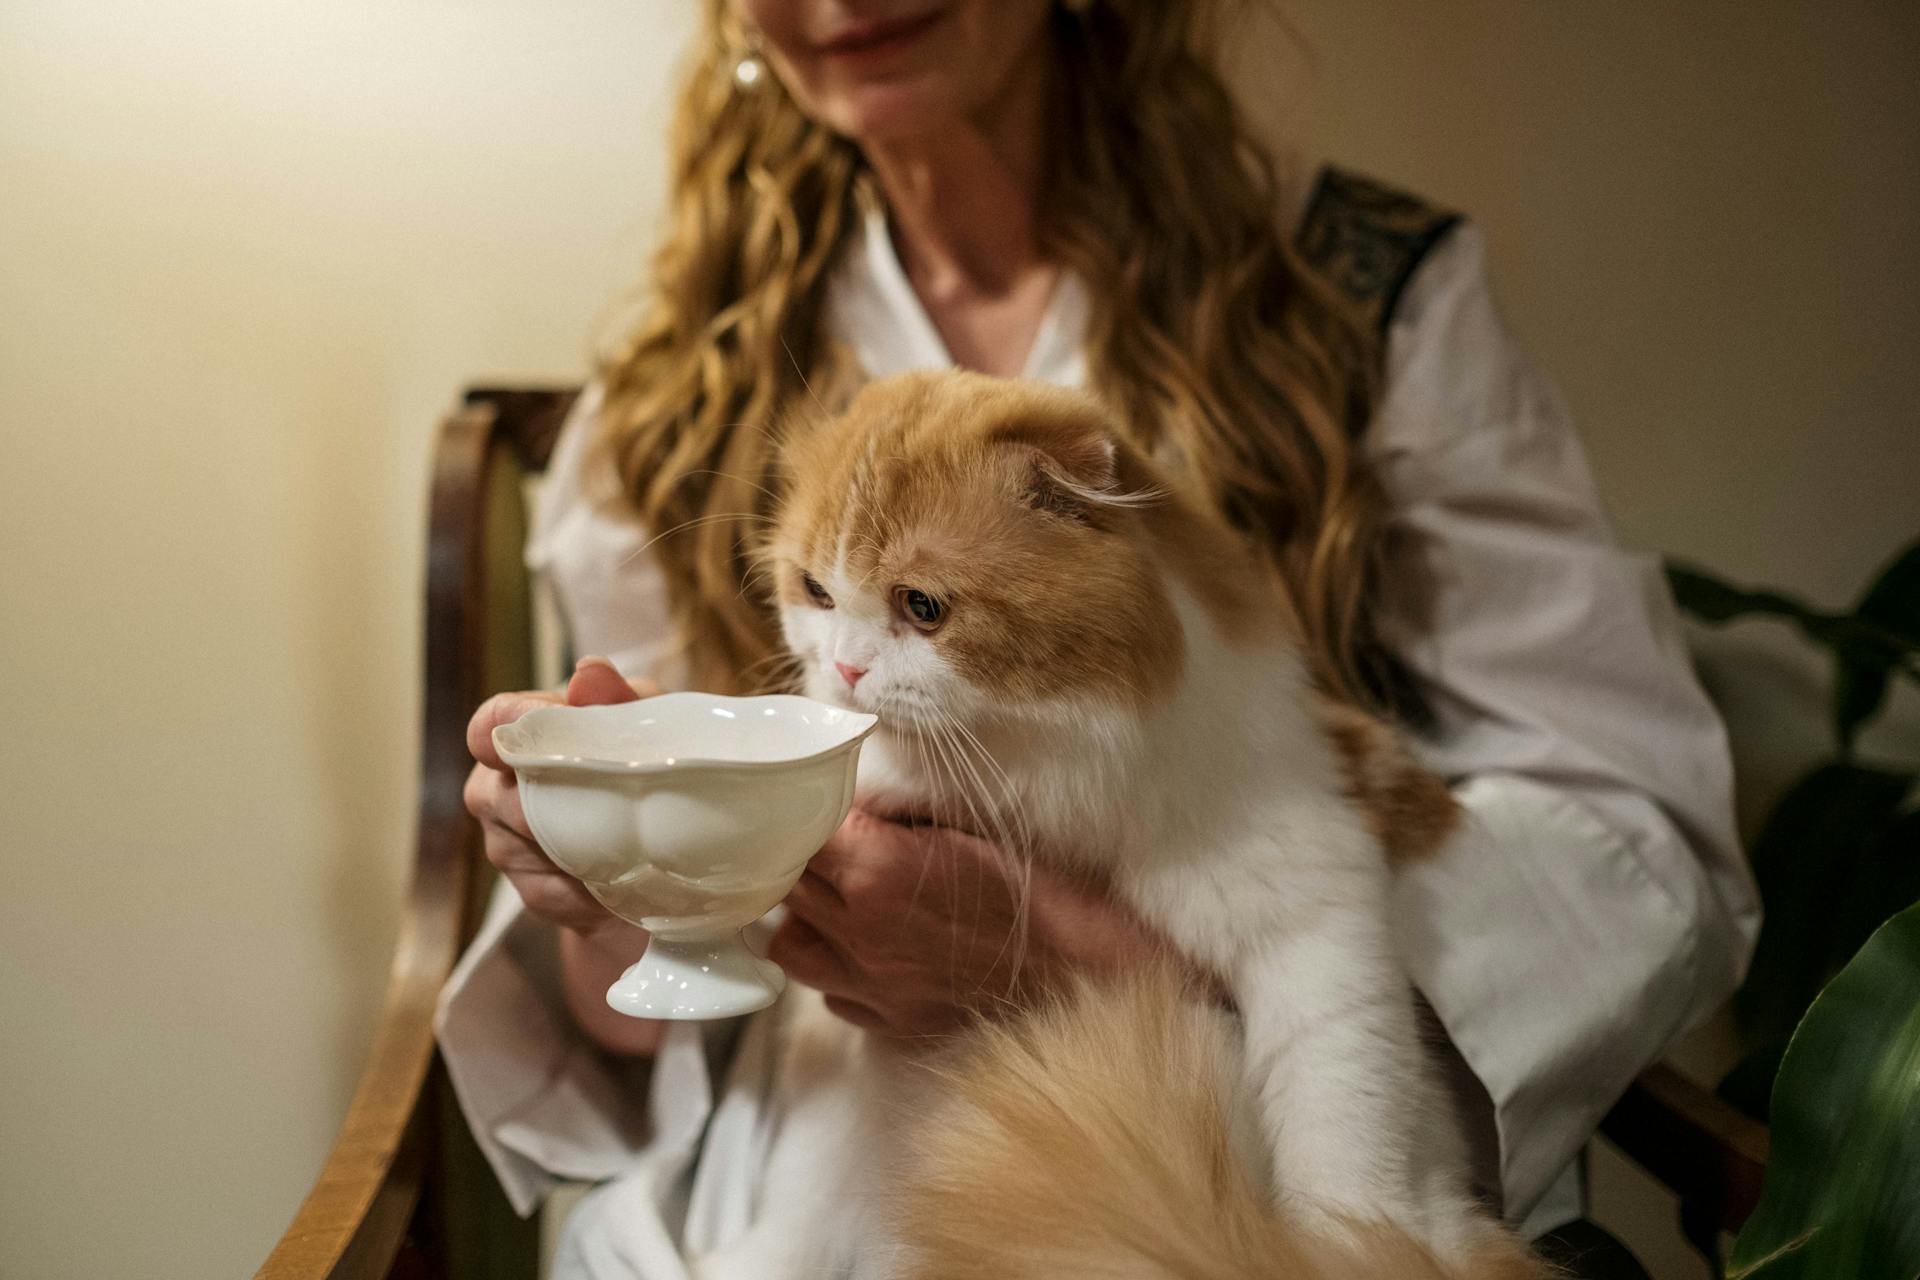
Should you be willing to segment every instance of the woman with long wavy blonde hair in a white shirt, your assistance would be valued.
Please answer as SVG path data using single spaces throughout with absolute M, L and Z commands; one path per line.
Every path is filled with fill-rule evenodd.
M 530 547 L 576 647 L 612 654 L 566 697 L 778 683 L 743 553 L 778 489 L 774 424 L 924 365 L 1092 388 L 1273 557 L 1323 677 L 1417 718 L 1455 781 L 1469 833 L 1404 873 L 1396 910 L 1488 1188 L 1538 1234 L 1578 1217 L 1611 1100 L 1743 969 L 1722 733 L 1655 566 L 1611 545 L 1563 407 L 1494 315 L 1476 232 L 1323 182 L 1317 257 L 1388 249 L 1340 297 L 1290 248 L 1300 192 L 1194 52 L 1206 8 L 708 0 L 651 309 L 563 432 Z M 488 741 L 541 700 L 472 723 L 468 808 L 515 892 L 449 984 L 442 1044 L 516 1207 L 603 1180 L 564 1268 L 680 1276 L 751 1219 L 776 1048 L 764 1019 L 605 1007 L 645 938 L 540 856 Z M 810 873 L 858 879 L 864 906 L 791 913 L 770 954 L 912 1036 L 1154 946 L 1037 875 L 1010 981 L 1000 858 L 856 812 Z

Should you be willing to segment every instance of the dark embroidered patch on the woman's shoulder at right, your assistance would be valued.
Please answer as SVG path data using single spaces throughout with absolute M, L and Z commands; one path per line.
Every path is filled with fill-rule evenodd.
M 1457 213 L 1329 165 L 1321 169 L 1294 244 L 1309 267 L 1386 332 L 1400 292 L 1455 223 Z

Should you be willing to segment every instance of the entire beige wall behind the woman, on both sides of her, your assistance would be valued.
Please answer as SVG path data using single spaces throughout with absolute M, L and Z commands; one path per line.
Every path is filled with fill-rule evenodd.
M 305 1190 L 403 873 L 430 428 L 584 368 L 687 8 L 0 6 L 0 1274 L 244 1274 Z M 1920 10 L 1288 8 L 1263 113 L 1480 219 L 1634 543 L 1837 603 L 1916 532 Z

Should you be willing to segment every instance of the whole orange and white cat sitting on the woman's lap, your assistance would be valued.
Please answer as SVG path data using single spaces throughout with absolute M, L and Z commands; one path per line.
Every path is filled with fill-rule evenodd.
M 1175 1242 L 1131 1263 L 1048 1253 L 1050 1228 L 1085 1245 L 1096 1205 L 1133 1197 L 1158 1201 L 1137 1226 L 1212 1205 L 1252 1215 L 1215 1236 L 1292 1242 L 1204 1274 L 1382 1274 L 1365 1255 L 1380 1230 L 1430 1274 L 1532 1274 L 1469 1197 L 1388 931 L 1388 837 L 1440 841 L 1450 800 L 1315 691 L 1263 558 L 1096 401 L 962 372 L 872 384 L 789 447 L 766 562 L 804 691 L 881 716 L 862 796 L 1079 860 L 1219 975 L 1238 1023 L 1169 983 L 1094 992 L 1048 1015 L 1079 1032 L 985 1034 L 943 1080 L 795 992 L 760 1222 L 712 1274 L 1025 1274 L 956 1244 L 1021 1232 L 1052 1257 L 1035 1276 L 1202 1274 Z M 1190 1055 L 1164 1052 L 1169 1025 Z M 1100 1044 L 1108 1075 L 1058 1094 L 1083 1103 L 1048 1111 L 1064 1136 L 1006 1111 L 1021 1088 L 1062 1090 L 1075 1044 Z M 1177 1086 L 1148 1084 L 1181 1063 Z M 1140 1086 L 1114 1088 L 1129 1073 Z M 927 1117 L 918 1146 L 910 1117 Z M 1242 1192 L 1196 1194 L 1179 1171 L 1219 1151 Z M 1029 1188 L 1018 1224 L 1002 1184 Z

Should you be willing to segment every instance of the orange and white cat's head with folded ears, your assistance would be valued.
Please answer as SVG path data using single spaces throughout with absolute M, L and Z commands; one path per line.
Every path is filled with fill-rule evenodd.
M 785 461 L 766 570 L 812 697 L 927 727 L 1142 708 L 1177 679 L 1164 478 L 1094 399 L 906 374 Z

